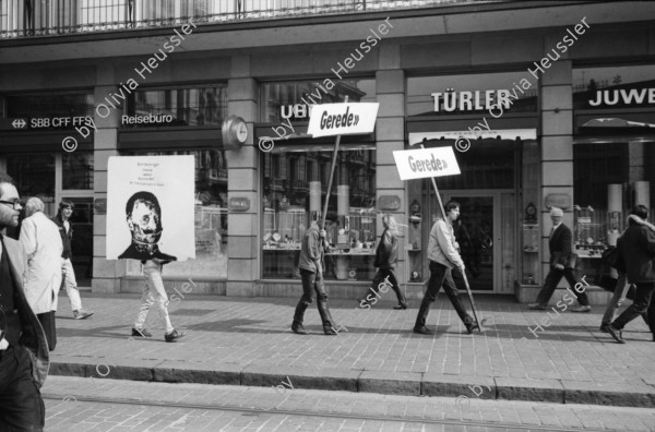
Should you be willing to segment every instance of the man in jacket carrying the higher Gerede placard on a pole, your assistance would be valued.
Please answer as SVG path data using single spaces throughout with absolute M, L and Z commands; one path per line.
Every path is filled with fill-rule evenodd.
M 300 267 L 300 278 L 302 279 L 302 297 L 296 307 L 294 323 L 291 324 L 291 329 L 300 335 L 309 333 L 302 326 L 302 320 L 305 311 L 313 301 L 314 290 L 318 297 L 319 314 L 323 322 L 323 332 L 329 336 L 338 334 L 327 309 L 327 295 L 323 286 L 323 248 L 327 248 L 325 236 L 325 230 L 319 231 L 319 225 L 314 220 L 309 229 L 305 231 L 302 243 L 300 243 L 298 267 Z

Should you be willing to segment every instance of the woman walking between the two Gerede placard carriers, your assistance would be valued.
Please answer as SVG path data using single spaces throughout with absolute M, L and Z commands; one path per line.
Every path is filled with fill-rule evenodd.
M 396 262 L 398 261 L 398 228 L 395 219 L 391 215 L 382 216 L 382 225 L 384 225 L 384 232 L 382 232 L 382 237 L 380 237 L 380 243 L 376 250 L 376 262 L 373 264 L 378 267 L 378 273 L 367 290 L 368 296 L 359 301 L 359 307 L 370 309 L 371 304 L 378 302 L 377 298 L 380 298 L 378 295 L 380 286 L 391 285 L 391 288 L 393 288 L 398 298 L 398 304 L 393 307 L 393 309 L 407 309 L 407 301 L 405 300 L 405 296 L 403 296 L 398 281 L 393 273 Z

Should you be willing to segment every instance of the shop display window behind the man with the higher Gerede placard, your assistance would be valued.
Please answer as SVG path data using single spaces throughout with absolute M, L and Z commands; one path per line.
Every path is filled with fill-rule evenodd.
M 298 278 L 302 235 L 320 220 L 332 152 L 267 153 L 263 157 L 263 277 Z M 335 168 L 325 230 L 331 251 L 325 278 L 366 280 L 374 274 L 374 152 L 342 148 Z

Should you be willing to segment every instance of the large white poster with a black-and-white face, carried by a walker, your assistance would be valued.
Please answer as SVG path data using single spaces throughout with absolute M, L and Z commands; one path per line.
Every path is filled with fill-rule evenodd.
M 194 156 L 111 156 L 107 260 L 195 257 Z

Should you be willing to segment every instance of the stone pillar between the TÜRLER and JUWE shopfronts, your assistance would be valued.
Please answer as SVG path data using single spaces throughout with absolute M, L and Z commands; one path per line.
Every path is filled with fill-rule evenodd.
M 557 44 L 546 38 L 545 49 Z M 544 200 L 549 194 L 571 196 L 563 223 L 573 230 L 573 96 L 571 61 L 560 59 L 540 75 L 541 103 L 541 261 L 543 277 L 549 271 L 548 238 L 552 224 Z M 543 284 L 544 280 L 540 280 Z M 562 284 L 565 284 L 563 281 Z

